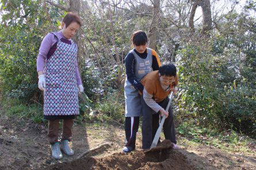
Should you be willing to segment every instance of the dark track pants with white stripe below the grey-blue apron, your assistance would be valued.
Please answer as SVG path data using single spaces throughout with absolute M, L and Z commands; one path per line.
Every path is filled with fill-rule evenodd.
M 125 146 L 135 149 L 136 133 L 139 129 L 140 117 L 125 117 Z

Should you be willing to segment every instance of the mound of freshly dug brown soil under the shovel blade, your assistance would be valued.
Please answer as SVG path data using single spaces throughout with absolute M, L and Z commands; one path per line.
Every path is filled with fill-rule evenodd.
M 181 152 L 173 149 L 166 151 L 155 151 L 144 153 L 143 151 L 134 151 L 129 154 L 114 153 L 100 159 L 85 157 L 73 160 L 71 162 L 50 165 L 45 169 L 196 169 L 194 165 Z

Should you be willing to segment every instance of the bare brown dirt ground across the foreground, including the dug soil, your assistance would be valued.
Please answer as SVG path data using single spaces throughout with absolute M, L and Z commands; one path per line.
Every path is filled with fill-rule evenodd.
M 54 160 L 45 140 L 46 131 L 43 125 L 27 122 L 21 126 L 1 116 L 0 169 L 256 169 L 256 153 L 228 153 L 206 145 L 144 153 L 139 149 L 140 133 L 136 151 L 124 154 L 123 126 L 104 122 L 86 127 L 75 125 L 72 142 L 75 155 Z M 112 145 L 77 159 L 88 149 L 106 142 Z

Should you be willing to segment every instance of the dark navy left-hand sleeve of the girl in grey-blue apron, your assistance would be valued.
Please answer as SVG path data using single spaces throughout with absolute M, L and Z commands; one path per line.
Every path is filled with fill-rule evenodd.
M 125 72 L 127 74 L 128 81 L 141 92 L 143 91 L 143 85 L 135 76 L 136 60 L 132 53 L 128 53 L 125 57 Z

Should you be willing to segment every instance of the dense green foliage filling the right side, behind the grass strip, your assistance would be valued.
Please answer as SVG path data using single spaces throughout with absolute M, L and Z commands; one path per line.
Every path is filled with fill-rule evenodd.
M 243 22 L 228 37 L 201 39 L 180 50 L 178 115 L 255 136 L 255 19 L 240 17 Z

